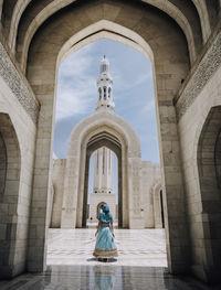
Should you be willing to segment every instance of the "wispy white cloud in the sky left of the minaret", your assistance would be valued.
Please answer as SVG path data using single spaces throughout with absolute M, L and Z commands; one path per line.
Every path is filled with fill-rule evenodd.
M 90 74 L 92 63 L 88 50 L 81 50 L 62 63 L 59 71 L 56 121 L 75 114 L 85 114 L 95 103 L 96 84 Z

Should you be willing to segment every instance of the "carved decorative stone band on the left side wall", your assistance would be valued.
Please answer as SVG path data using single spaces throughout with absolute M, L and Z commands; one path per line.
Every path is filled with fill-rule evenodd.
M 21 106 L 29 114 L 34 123 L 38 120 L 39 106 L 33 93 L 24 85 L 3 45 L 0 43 L 0 75 L 6 80 Z

